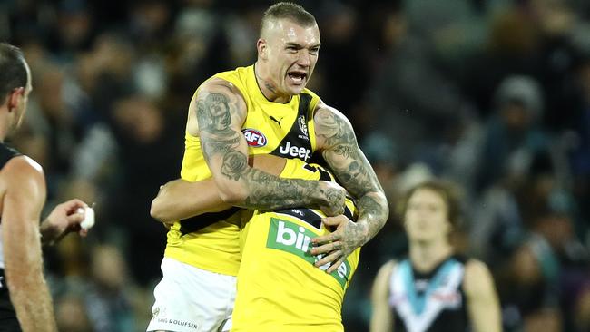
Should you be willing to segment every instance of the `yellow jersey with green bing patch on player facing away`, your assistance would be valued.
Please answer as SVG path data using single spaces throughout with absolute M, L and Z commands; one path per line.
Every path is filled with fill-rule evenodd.
M 319 165 L 287 161 L 281 177 L 332 180 Z M 355 207 L 347 200 L 347 214 Z M 316 268 L 310 240 L 329 233 L 320 210 L 257 210 L 242 231 L 245 236 L 238 293 L 232 317 L 235 332 L 343 331 L 344 292 L 357 269 L 360 249 L 336 272 Z

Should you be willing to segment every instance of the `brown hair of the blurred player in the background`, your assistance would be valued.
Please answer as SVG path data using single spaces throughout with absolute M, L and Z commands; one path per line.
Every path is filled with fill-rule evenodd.
M 402 220 L 406 218 L 409 199 L 416 191 L 423 189 L 432 190 L 436 192 L 440 198 L 442 198 L 442 200 L 445 202 L 445 205 L 447 206 L 448 222 L 450 222 L 454 229 L 460 227 L 462 213 L 459 190 L 453 183 L 437 179 L 421 182 L 408 190 L 398 206 L 398 213 Z

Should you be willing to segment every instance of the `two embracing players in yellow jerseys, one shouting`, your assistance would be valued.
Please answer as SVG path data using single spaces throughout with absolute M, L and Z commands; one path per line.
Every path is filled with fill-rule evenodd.
M 359 247 L 388 218 L 349 121 L 305 88 L 315 18 L 272 5 L 256 46 L 197 89 L 182 180 L 152 202 L 170 230 L 148 331 L 342 331 Z

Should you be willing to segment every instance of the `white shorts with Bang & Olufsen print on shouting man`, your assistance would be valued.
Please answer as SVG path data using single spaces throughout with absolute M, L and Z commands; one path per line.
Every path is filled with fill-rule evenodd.
M 225 332 L 231 329 L 236 277 L 162 259 L 162 281 L 147 331 Z

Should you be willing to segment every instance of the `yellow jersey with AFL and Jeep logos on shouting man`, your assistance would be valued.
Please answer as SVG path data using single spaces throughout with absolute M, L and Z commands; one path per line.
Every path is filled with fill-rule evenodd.
M 315 151 L 313 111 L 320 98 L 305 89 L 289 103 L 273 103 L 264 97 L 256 81 L 254 66 L 241 67 L 218 77 L 233 83 L 247 105 L 247 117 L 242 132 L 250 154 L 270 153 L 285 158 L 309 160 Z M 197 90 L 198 92 L 198 90 Z M 189 107 L 195 103 L 195 95 Z M 185 133 L 181 177 L 186 181 L 201 181 L 211 177 L 204 160 L 201 140 Z M 238 274 L 240 267 L 240 230 L 243 213 L 232 208 L 219 213 L 175 222 L 168 232 L 164 256 L 212 272 Z

